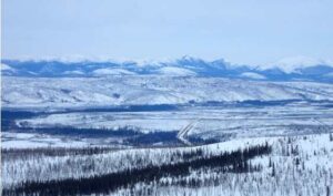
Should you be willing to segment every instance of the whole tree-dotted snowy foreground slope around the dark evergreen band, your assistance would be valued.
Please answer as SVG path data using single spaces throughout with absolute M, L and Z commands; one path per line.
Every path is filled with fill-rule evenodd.
M 179 166 L 178 168 L 181 171 L 186 163 L 198 164 L 204 162 L 205 158 L 224 156 L 223 153 L 232 154 L 235 151 L 243 151 L 245 156 L 246 151 L 255 146 L 270 146 L 272 151 L 256 154 L 248 159 L 248 166 L 241 166 L 241 168 L 249 168 L 249 171 L 235 172 L 232 169 L 234 168 L 233 164 L 219 169 L 219 165 L 222 163 L 206 167 L 191 165 L 188 173 L 179 172 L 178 175 L 168 175 L 174 174 L 174 171 L 164 171 L 173 168 L 172 165 Z M 6 193 L 10 193 L 10 189 L 13 193 L 22 193 L 22 189 L 16 189 L 16 187 L 24 186 L 27 186 L 26 192 L 33 193 L 38 192 L 39 187 L 46 188 L 50 184 L 57 183 L 54 180 L 58 180 L 59 186 L 74 180 L 77 184 L 73 185 L 79 186 L 81 185 L 80 180 L 84 180 L 84 178 L 93 183 L 107 174 L 114 174 L 117 177 L 117 174 L 129 174 L 122 173 L 123 171 L 137 169 L 139 172 L 145 168 L 160 168 L 159 174 L 164 174 L 160 177 L 137 180 L 130 186 L 119 186 L 110 190 L 107 186 L 111 185 L 105 184 L 102 189 L 97 189 L 97 192 L 119 196 L 133 194 L 144 196 L 157 194 L 165 196 L 330 195 L 333 188 L 332 152 L 332 134 L 243 138 L 196 147 L 111 149 L 111 152 L 98 148 L 91 151 L 89 148 L 84 151 L 68 148 L 58 149 L 58 153 L 50 148 L 4 151 L 2 152 L 4 158 L 1 164 L 1 177 L 3 188 L 9 190 Z M 18 156 L 19 154 L 22 155 Z M 231 171 L 228 172 L 229 169 Z M 150 173 L 154 174 L 152 171 Z M 149 175 L 144 174 L 144 176 Z M 54 180 L 52 182 L 52 179 Z M 133 178 L 130 180 L 135 182 Z M 22 184 L 23 182 L 36 183 L 29 185 Z M 84 184 L 84 186 L 93 187 L 94 185 Z M 54 186 L 49 188 L 54 188 Z M 88 189 L 75 189 L 72 186 L 69 186 L 68 189 L 54 189 L 54 192 L 58 190 L 72 194 L 75 192 L 90 193 Z

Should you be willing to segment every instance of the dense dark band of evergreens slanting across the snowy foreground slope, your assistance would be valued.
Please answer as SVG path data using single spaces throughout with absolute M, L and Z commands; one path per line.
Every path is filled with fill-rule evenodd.
M 271 146 L 258 145 L 246 149 L 224 152 L 220 155 L 202 156 L 202 152 L 193 152 L 184 162 L 163 164 L 160 166 L 148 165 L 143 168 L 128 169 L 119 173 L 91 176 L 88 178 L 56 179 L 49 182 L 27 182 L 13 189 L 3 189 L 2 195 L 91 195 L 108 194 L 122 187 L 132 187 L 137 183 L 151 183 L 162 177 L 183 177 L 191 169 L 218 169 L 221 173 L 244 173 L 259 171 L 259 166 L 252 166 L 249 161 L 255 156 L 269 154 Z M 201 155 L 201 156 L 200 156 Z M 192 180 L 186 186 L 199 186 L 200 182 Z

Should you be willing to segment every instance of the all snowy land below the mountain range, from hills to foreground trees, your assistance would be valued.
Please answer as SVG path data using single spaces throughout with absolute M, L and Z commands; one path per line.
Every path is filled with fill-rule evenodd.
M 306 81 L 3 76 L 2 194 L 330 195 L 332 95 Z

